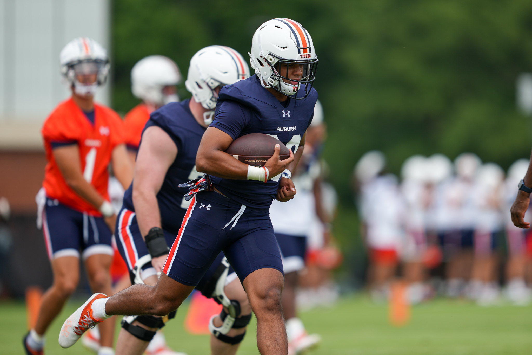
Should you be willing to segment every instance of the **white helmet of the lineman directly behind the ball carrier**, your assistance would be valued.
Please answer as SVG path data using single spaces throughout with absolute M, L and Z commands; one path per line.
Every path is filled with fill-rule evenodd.
M 185 86 L 196 102 L 201 103 L 203 108 L 211 110 L 203 114 L 206 125 L 212 122 L 218 100 L 218 94 L 214 89 L 248 77 L 250 77 L 250 68 L 235 49 L 226 46 L 209 46 L 194 54 L 190 59 Z

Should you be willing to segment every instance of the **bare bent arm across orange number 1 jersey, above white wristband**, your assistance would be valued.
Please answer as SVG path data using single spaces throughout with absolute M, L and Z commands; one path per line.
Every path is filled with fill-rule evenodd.
M 87 183 L 87 180 L 83 177 L 78 145 L 71 144 L 56 147 L 52 152 L 66 185 L 99 210 L 105 200 L 94 186 Z

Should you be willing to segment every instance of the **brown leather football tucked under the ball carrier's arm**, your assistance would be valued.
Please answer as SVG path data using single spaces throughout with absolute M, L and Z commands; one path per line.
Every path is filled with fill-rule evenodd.
M 281 148 L 279 159 L 285 160 L 289 158 L 290 151 L 286 145 L 282 144 L 278 139 L 262 133 L 251 133 L 238 137 L 227 148 L 226 153 L 231 154 L 235 159 L 243 163 L 263 167 L 273 155 L 276 144 L 279 144 Z

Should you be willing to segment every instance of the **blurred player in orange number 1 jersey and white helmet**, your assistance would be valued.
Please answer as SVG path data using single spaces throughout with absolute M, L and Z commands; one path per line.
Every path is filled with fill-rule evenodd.
M 94 94 L 109 74 L 105 49 L 90 38 L 77 38 L 60 55 L 61 73 L 72 90 L 46 119 L 43 134 L 48 164 L 39 192 L 39 217 L 54 282 L 46 291 L 34 329 L 24 338 L 27 354 L 42 354 L 44 334 L 76 290 L 79 258 L 85 262 L 93 292 L 111 293 L 114 214 L 107 184 L 112 164 L 125 188 L 132 168 L 123 139 L 122 120 L 94 103 Z M 81 252 L 81 255 L 80 255 Z M 100 325 L 99 354 L 112 354 L 113 322 Z

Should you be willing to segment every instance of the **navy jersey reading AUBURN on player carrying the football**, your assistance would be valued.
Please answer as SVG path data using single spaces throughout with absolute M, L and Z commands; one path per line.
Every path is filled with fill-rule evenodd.
M 296 95 L 303 96 L 298 92 Z M 294 153 L 314 115 L 318 93 L 312 89 L 304 100 L 288 99 L 286 105 L 263 88 L 256 75 L 222 87 L 210 127 L 232 139 L 250 133 L 264 133 L 279 139 Z M 277 196 L 279 176 L 266 183 L 255 180 L 212 178 L 221 193 L 253 208 L 269 208 Z

